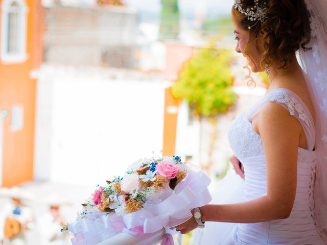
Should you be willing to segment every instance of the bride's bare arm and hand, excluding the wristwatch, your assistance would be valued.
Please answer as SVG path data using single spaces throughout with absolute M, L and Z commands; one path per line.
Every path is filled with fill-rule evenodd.
M 202 221 L 256 223 L 287 218 L 296 193 L 297 153 L 301 125 L 282 106 L 265 103 L 258 114 L 267 165 L 267 195 L 237 204 L 206 205 L 201 207 Z M 190 224 L 179 230 L 193 230 Z

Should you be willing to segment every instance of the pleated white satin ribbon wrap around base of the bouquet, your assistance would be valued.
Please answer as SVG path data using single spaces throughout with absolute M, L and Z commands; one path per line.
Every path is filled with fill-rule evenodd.
M 159 198 L 150 198 L 136 212 L 124 216 L 99 212 L 97 216 L 93 214 L 69 224 L 68 231 L 74 235 L 72 243 L 94 245 L 121 232 L 145 236 L 162 228 L 176 227 L 192 217 L 190 210 L 211 202 L 207 189 L 210 182 L 202 171 L 190 169 L 174 190 L 167 186 Z

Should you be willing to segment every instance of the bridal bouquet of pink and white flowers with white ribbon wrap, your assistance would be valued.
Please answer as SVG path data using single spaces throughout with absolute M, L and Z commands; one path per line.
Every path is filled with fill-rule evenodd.
M 119 233 L 147 236 L 192 217 L 191 209 L 211 201 L 209 178 L 178 156 L 138 160 L 82 204 L 75 222 L 62 228 L 72 243 L 97 244 Z M 168 230 L 168 233 L 171 233 Z M 172 244 L 171 235 L 162 243 Z

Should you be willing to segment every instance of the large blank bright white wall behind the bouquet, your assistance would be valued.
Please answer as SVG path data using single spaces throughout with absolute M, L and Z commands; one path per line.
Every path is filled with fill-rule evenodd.
M 112 80 L 97 70 L 62 67 L 40 72 L 35 179 L 101 184 L 160 153 L 164 82 Z

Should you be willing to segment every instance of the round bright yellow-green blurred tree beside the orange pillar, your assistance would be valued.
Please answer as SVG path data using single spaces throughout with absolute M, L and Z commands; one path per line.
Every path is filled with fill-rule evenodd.
M 178 80 L 173 84 L 173 95 L 188 101 L 195 115 L 215 117 L 225 112 L 237 99 L 231 85 L 229 68 L 231 51 L 213 47 L 200 48 L 185 62 Z

